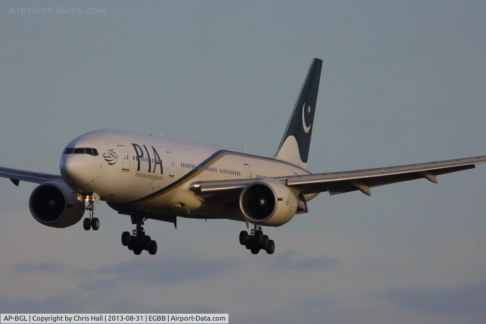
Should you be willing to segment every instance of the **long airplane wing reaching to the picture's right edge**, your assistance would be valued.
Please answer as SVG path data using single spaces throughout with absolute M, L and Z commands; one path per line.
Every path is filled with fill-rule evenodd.
M 281 181 L 287 187 L 298 189 L 303 194 L 328 191 L 330 195 L 335 195 L 360 190 L 371 196 L 370 188 L 373 187 L 420 178 L 437 183 L 436 175 L 473 169 L 475 164 L 485 162 L 486 156 L 476 156 L 387 168 L 291 175 L 274 179 Z M 191 184 L 191 190 L 200 195 L 234 194 L 253 181 L 255 179 L 201 181 Z

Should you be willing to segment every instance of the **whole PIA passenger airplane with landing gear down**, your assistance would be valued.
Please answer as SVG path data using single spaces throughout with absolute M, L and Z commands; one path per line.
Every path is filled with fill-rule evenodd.
M 16 186 L 40 184 L 29 199 L 37 222 L 64 228 L 83 221 L 98 230 L 94 203 L 106 202 L 130 216 L 136 228 L 121 243 L 135 255 L 155 255 L 157 243 L 142 225 L 150 220 L 174 223 L 177 217 L 229 219 L 253 225 L 241 231 L 240 244 L 258 254 L 275 251 L 262 226 L 281 226 L 307 213 L 320 192 L 330 195 L 475 168 L 486 156 L 387 168 L 311 173 L 306 170 L 322 60 L 312 59 L 294 110 L 275 155 L 119 130 L 95 130 L 76 137 L 60 158 L 60 175 L 0 167 L 0 177 Z M 87 204 L 87 205 L 86 205 Z

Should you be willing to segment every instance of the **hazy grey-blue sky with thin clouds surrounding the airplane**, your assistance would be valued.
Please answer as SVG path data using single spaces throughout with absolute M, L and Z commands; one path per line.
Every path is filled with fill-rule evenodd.
M 485 14 L 472 1 L 4 1 L 0 165 L 59 174 L 65 145 L 103 128 L 273 154 L 313 57 L 310 171 L 485 155 Z M 157 255 L 134 256 L 129 218 L 104 203 L 99 231 L 53 229 L 30 215 L 34 184 L 0 179 L 0 311 L 486 323 L 485 180 L 480 165 L 322 193 L 264 229 L 273 256 L 239 245 L 243 223 L 149 221 Z

